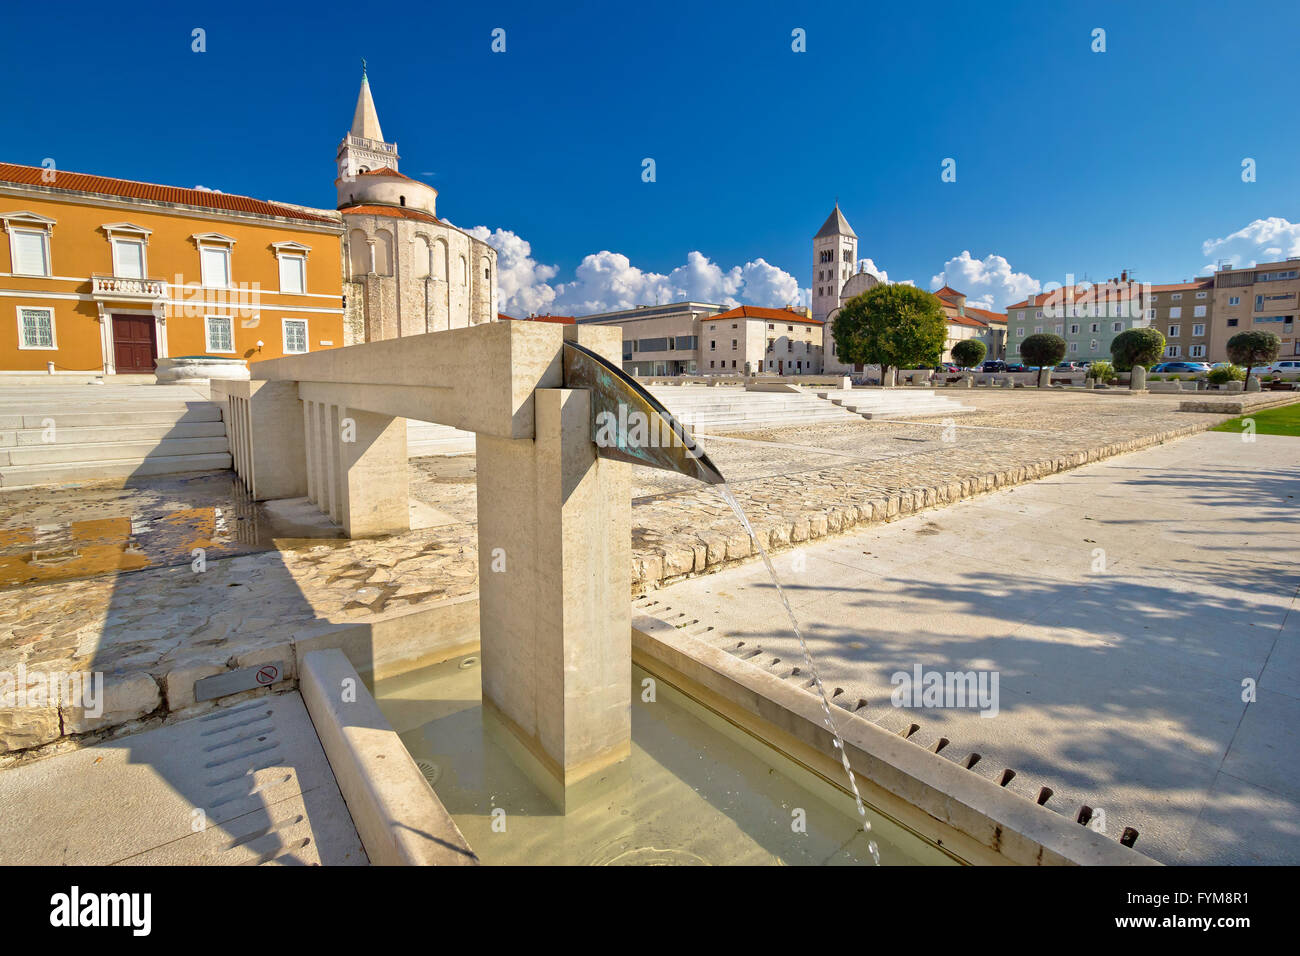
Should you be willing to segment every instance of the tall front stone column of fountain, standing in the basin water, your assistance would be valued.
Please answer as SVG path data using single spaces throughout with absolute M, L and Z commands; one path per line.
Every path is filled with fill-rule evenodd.
M 538 389 L 534 418 L 477 440 L 482 696 L 564 808 L 630 753 L 630 466 L 597 458 L 588 392 Z

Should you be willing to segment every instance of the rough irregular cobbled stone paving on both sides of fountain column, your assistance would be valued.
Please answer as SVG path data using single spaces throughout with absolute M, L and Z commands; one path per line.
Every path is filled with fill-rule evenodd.
M 1127 393 L 976 392 L 963 402 L 979 411 L 959 423 L 801 427 L 731 433 L 706 446 L 758 532 L 780 551 L 1225 419 L 1179 412 L 1176 397 Z M 214 551 L 203 572 L 185 546 L 196 533 L 192 522 L 166 522 L 173 509 L 216 507 L 211 489 L 195 490 L 202 483 L 168 485 L 165 493 L 156 480 L 142 480 L 116 494 L 0 494 L 0 529 L 10 535 L 42 522 L 124 514 L 152 528 L 179 528 L 170 546 L 155 551 L 134 548 L 130 537 L 120 542 L 152 555 L 155 563 L 142 570 L 0 591 L 0 672 L 20 665 L 101 671 L 116 693 L 113 713 L 98 722 L 55 705 L 0 709 L 0 753 L 187 708 L 196 678 L 270 659 L 322 622 L 367 623 L 474 594 L 473 457 L 415 459 L 411 468 L 412 494 L 433 512 L 430 527 L 363 541 L 228 533 L 216 544 L 233 557 Z M 749 538 L 715 490 L 637 468 L 633 496 L 638 593 L 751 559 Z M 248 518 L 240 507 L 231 502 L 234 519 Z

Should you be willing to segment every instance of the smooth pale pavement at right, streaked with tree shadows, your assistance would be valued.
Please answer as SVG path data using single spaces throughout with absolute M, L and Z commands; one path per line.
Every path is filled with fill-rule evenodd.
M 1169 864 L 1300 862 L 1300 440 L 1204 433 L 776 558 L 837 704 Z M 645 613 L 807 667 L 766 570 Z M 998 710 L 896 708 L 897 672 L 997 672 Z M 1253 702 L 1243 695 L 1253 688 Z

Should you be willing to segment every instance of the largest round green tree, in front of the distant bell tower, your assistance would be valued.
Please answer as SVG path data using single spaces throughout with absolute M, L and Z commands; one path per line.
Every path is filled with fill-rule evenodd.
M 910 285 L 878 285 L 849 299 L 831 325 L 842 362 L 889 369 L 939 364 L 948 319 L 939 299 Z

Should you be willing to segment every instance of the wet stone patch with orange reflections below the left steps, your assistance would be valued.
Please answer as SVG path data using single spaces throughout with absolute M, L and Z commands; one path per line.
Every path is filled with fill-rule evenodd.
M 332 542 L 347 544 L 332 525 L 268 510 L 229 475 L 0 496 L 0 589 Z

